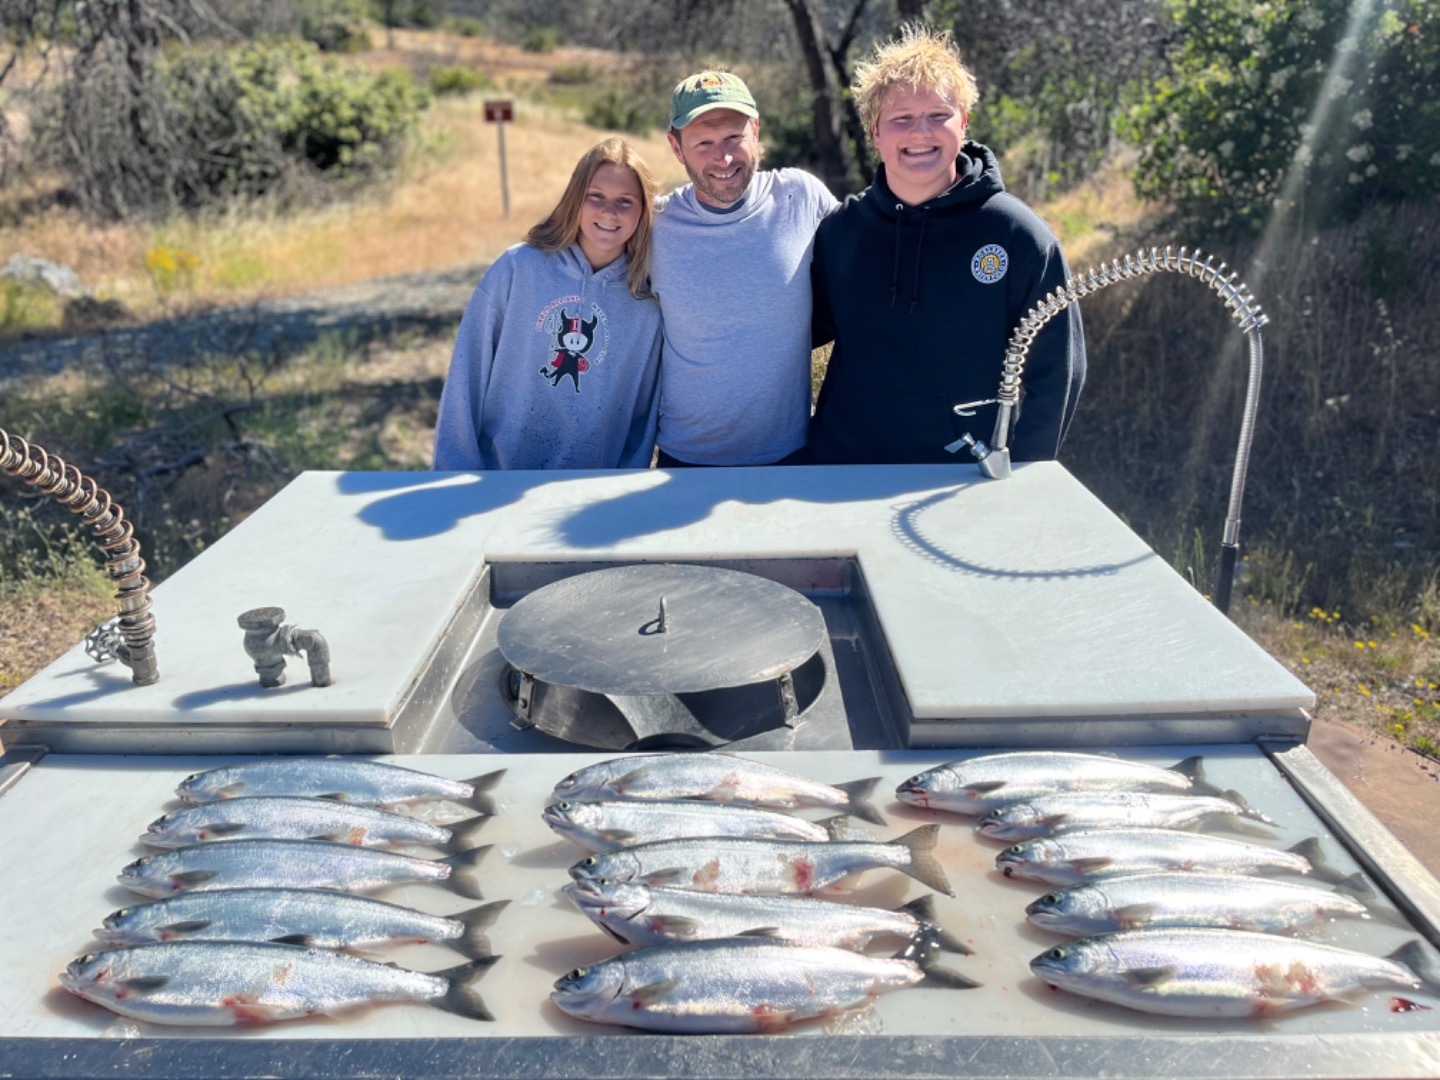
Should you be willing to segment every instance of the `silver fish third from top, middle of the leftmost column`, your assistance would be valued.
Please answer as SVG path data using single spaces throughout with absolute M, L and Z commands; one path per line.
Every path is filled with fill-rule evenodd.
M 480 900 L 478 865 L 487 851 L 484 847 L 432 860 L 318 840 L 235 840 L 137 858 L 120 873 L 120 883 L 141 896 L 166 897 L 215 888 L 370 893 L 428 881 Z

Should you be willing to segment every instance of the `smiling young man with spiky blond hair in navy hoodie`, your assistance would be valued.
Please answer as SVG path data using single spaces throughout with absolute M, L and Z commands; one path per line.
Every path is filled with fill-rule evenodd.
M 1070 271 L 1054 233 L 1005 193 L 995 156 L 966 141 L 978 94 L 949 33 L 906 27 L 852 91 L 881 164 L 815 238 L 816 341 L 835 346 L 811 451 L 818 464 L 955 461 L 946 444 L 988 442 L 996 406 L 953 406 L 995 397 L 1011 331 Z M 1056 456 L 1084 370 L 1071 304 L 1025 361 L 1014 459 Z

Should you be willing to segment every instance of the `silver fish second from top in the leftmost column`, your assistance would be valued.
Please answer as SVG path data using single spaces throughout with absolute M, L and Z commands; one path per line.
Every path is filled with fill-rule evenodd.
M 459 822 L 442 827 L 360 804 L 261 795 L 166 814 L 150 822 L 140 840 L 156 848 L 230 840 L 328 840 L 357 847 L 423 844 L 456 852 L 480 847 L 478 832 L 487 821 L 490 818 L 469 818 L 464 827 Z

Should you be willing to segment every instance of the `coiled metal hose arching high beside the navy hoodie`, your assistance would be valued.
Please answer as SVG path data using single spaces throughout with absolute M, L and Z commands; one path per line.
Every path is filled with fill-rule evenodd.
M 1201 261 L 1204 258 L 1204 261 Z M 1230 609 L 1230 590 L 1236 573 L 1236 556 L 1240 549 L 1240 504 L 1246 492 L 1246 474 L 1250 468 L 1250 444 L 1254 438 L 1256 412 L 1260 405 L 1260 373 L 1264 367 L 1264 348 L 1260 328 L 1270 320 L 1260 311 L 1260 304 L 1244 284 L 1236 281 L 1234 272 L 1225 272 L 1225 264 L 1215 265 L 1215 256 L 1202 256 L 1197 249 L 1181 248 L 1178 253 L 1165 248 L 1140 249 L 1135 255 L 1100 264 L 1079 276 L 1070 278 L 1063 288 L 1038 301 L 1020 320 L 1005 347 L 1005 369 L 1001 374 L 999 413 L 995 419 L 992 452 L 1005 449 L 1009 438 L 1009 418 L 1020 402 L 1020 376 L 1025 370 L 1025 357 L 1041 327 L 1077 300 L 1099 292 L 1117 281 L 1143 278 L 1149 274 L 1171 271 L 1197 278 L 1211 288 L 1225 302 L 1230 317 L 1246 334 L 1250 347 L 1250 380 L 1246 386 L 1244 413 L 1240 419 L 1240 441 L 1236 448 L 1236 468 L 1230 480 L 1230 508 L 1225 516 L 1225 533 L 1220 547 L 1220 576 L 1215 585 L 1215 606 Z M 1004 455 L 1008 456 L 1008 455 Z

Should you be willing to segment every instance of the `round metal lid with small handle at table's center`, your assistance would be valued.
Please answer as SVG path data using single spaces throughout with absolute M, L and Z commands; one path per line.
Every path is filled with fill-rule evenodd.
M 693 694 L 779 678 L 825 639 L 819 608 L 739 570 L 642 563 L 566 577 L 498 628 L 514 667 L 596 694 Z

